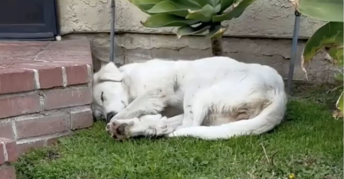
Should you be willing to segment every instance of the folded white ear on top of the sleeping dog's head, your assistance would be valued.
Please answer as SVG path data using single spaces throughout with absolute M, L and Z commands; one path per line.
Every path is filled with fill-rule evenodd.
M 99 83 L 101 81 L 115 81 L 123 80 L 123 74 L 116 67 L 115 63 L 109 62 L 103 65 L 100 70 L 93 75 L 93 82 Z

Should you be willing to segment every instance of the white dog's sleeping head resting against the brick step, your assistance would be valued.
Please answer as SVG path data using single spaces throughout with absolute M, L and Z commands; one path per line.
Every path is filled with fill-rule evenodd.
M 93 75 L 92 106 L 95 109 L 94 116 L 103 116 L 107 121 L 128 106 L 128 92 L 123 84 L 123 74 L 112 62 Z

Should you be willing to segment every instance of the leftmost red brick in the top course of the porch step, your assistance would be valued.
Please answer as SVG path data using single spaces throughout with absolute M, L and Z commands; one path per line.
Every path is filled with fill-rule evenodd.
M 30 91 L 35 88 L 32 70 L 0 69 L 0 94 Z

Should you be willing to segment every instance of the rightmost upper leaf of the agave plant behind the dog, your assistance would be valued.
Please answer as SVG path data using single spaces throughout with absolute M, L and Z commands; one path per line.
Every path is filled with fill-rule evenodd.
M 212 21 L 213 22 L 222 22 L 222 21 L 228 21 L 233 18 L 239 17 L 244 10 L 256 0 L 242 0 L 238 4 L 233 4 L 233 9 L 223 13 L 221 15 L 214 15 Z

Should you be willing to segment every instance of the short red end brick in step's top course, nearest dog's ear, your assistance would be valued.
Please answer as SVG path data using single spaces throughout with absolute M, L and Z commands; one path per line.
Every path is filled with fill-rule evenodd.
M 67 85 L 83 84 L 88 82 L 87 65 L 74 65 L 65 67 Z

